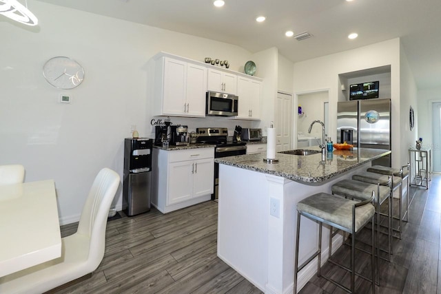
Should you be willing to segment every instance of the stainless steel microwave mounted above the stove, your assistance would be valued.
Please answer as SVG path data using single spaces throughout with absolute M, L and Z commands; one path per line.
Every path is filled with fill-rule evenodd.
M 237 116 L 238 96 L 220 92 L 207 92 L 207 116 Z

